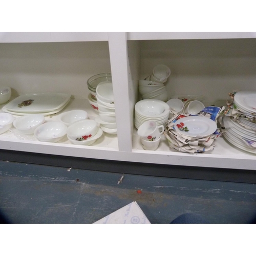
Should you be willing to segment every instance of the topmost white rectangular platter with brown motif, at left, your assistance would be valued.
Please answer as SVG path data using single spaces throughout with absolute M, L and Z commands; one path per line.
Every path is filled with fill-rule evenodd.
M 60 109 L 70 100 L 66 93 L 32 93 L 20 95 L 7 103 L 4 108 L 17 113 L 45 113 Z

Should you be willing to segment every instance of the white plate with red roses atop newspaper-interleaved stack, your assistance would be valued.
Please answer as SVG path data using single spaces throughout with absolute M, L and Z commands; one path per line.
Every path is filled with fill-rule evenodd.
M 175 130 L 189 137 L 206 137 L 217 130 L 215 121 L 202 116 L 188 116 L 175 122 Z

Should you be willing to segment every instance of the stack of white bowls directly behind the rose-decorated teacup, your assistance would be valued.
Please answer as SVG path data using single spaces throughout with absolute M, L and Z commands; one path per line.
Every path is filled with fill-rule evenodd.
M 135 127 L 146 121 L 153 120 L 158 125 L 166 126 L 169 118 L 169 106 L 158 99 L 143 99 L 135 104 Z

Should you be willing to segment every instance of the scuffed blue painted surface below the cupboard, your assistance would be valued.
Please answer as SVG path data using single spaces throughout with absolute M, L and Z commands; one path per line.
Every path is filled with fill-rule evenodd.
M 248 223 L 256 185 L 124 175 L 0 161 L 0 209 L 12 223 L 93 223 L 136 201 L 151 223 L 186 212 L 210 223 Z M 137 190 L 142 191 L 141 194 Z

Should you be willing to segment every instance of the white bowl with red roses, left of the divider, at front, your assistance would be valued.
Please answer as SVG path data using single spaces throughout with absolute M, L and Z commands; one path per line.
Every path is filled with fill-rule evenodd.
M 72 123 L 67 130 L 67 135 L 72 140 L 87 140 L 96 135 L 98 124 L 95 120 L 85 119 Z

